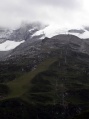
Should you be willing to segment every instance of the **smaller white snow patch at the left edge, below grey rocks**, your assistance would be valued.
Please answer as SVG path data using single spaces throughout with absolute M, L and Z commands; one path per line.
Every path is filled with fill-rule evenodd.
M 20 41 L 20 42 L 15 42 L 15 41 L 7 40 L 4 43 L 0 44 L 0 51 L 12 50 L 12 49 L 16 48 L 17 46 L 19 46 L 23 42 L 25 42 L 25 41 L 23 40 L 23 41 Z

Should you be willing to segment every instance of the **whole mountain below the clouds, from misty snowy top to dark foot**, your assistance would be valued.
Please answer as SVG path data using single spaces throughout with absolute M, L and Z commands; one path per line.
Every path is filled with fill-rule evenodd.
M 0 51 L 1 118 L 89 118 L 89 39 L 77 36 L 88 30 L 51 30 L 25 24 L 1 38 L 24 40 Z

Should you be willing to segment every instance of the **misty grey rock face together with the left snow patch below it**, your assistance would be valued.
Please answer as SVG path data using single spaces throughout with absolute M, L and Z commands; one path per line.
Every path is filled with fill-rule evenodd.
M 21 24 L 17 29 L 0 28 L 0 51 L 9 51 L 15 49 L 17 46 L 27 40 L 31 40 L 32 35 L 44 28 L 40 23 Z M 40 37 L 40 36 L 38 36 Z M 34 37 L 36 39 L 36 37 Z

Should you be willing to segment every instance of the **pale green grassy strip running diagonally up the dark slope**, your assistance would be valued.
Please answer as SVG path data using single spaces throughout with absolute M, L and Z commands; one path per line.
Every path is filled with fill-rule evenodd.
M 37 67 L 37 69 L 35 69 L 29 73 L 26 73 L 23 76 L 21 76 L 20 78 L 17 78 L 15 80 L 7 83 L 6 85 L 9 87 L 10 93 L 5 98 L 19 97 L 19 96 L 23 95 L 28 90 L 28 86 L 30 85 L 31 80 L 38 73 L 47 70 L 48 67 L 56 60 L 57 60 L 56 58 L 48 59 L 48 60 L 44 61 L 43 63 L 41 63 Z

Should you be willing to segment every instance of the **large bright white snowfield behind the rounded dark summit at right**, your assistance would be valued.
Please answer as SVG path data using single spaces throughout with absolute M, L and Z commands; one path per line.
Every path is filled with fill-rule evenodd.
M 82 39 L 89 38 L 89 31 L 85 30 L 84 28 L 75 29 L 76 32 L 75 31 L 69 32 L 69 30 L 70 29 L 68 29 L 68 28 L 60 28 L 60 26 L 52 24 L 52 25 L 45 27 L 42 30 L 37 31 L 36 33 L 34 33 L 32 35 L 32 37 L 41 35 L 42 36 L 41 39 L 43 39 L 44 37 L 51 38 L 51 37 L 53 37 L 55 35 L 59 35 L 59 34 L 71 34 L 71 35 L 75 35 Z

